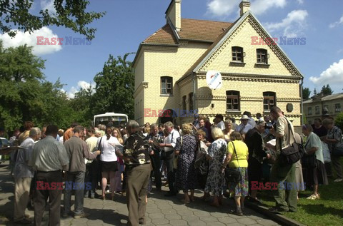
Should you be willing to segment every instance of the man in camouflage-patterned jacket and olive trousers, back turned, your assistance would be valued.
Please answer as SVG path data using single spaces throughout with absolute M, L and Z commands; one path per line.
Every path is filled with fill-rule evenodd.
M 149 144 L 135 120 L 129 120 L 126 129 L 130 136 L 124 145 L 124 153 L 116 149 L 116 155 L 126 165 L 126 205 L 129 210 L 127 225 L 145 225 L 145 197 L 151 171 Z

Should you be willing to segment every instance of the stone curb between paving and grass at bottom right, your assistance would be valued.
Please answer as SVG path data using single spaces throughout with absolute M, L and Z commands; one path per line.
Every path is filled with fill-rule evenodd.
M 285 217 L 284 215 L 275 214 L 273 212 L 270 212 L 268 207 L 266 207 L 264 205 L 257 205 L 255 203 L 252 203 L 252 202 L 249 202 L 249 201 L 246 202 L 245 205 L 247 207 L 251 208 L 252 210 L 260 212 L 263 215 L 266 215 L 270 219 L 278 222 L 280 225 L 306 226 L 306 225 L 303 225 L 302 223 L 297 222 L 296 220 L 293 220 L 293 219 L 290 219 L 288 217 Z

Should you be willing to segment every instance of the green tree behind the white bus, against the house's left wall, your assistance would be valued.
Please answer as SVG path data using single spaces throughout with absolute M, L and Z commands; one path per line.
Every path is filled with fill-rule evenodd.
M 122 58 L 110 55 L 102 71 L 94 77 L 93 114 L 115 112 L 134 117 L 134 68 L 132 62 L 126 61 L 129 54 Z

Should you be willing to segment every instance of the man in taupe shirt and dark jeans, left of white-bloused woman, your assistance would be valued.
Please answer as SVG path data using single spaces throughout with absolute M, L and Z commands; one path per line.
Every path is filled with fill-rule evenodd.
M 71 190 L 75 190 L 74 218 L 89 216 L 89 213 L 84 212 L 84 175 L 86 172 L 84 158 L 94 160 L 96 156 L 100 155 L 100 150 L 90 153 L 87 143 L 81 140 L 83 135 L 84 127 L 77 125 L 74 128 L 74 135 L 64 142 L 64 148 L 66 148 L 69 157 L 69 168 L 66 172 L 66 190 L 62 217 L 68 217 L 70 213 Z

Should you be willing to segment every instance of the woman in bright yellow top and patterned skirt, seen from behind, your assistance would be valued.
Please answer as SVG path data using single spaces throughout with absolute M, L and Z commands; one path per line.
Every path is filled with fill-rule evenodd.
M 227 158 L 222 165 L 222 171 L 229 164 L 229 168 L 236 168 L 241 173 L 241 180 L 238 183 L 229 183 L 229 189 L 232 195 L 234 195 L 234 201 L 236 202 L 236 210 L 232 213 L 242 216 L 244 211 L 244 199 L 249 192 L 249 180 L 248 180 L 248 158 L 249 150 L 247 145 L 242 141 L 242 135 L 239 132 L 233 132 L 230 134 L 230 140 L 227 146 Z

